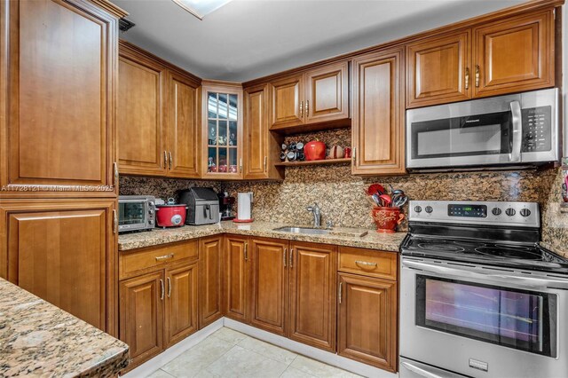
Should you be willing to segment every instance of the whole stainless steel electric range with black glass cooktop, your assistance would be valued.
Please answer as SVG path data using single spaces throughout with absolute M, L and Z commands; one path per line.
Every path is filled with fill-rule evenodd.
M 399 375 L 568 376 L 568 261 L 532 202 L 411 201 Z

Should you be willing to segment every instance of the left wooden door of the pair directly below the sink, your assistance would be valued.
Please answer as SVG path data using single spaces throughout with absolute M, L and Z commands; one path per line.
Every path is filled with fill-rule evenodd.
M 288 242 L 252 240 L 251 325 L 286 335 Z

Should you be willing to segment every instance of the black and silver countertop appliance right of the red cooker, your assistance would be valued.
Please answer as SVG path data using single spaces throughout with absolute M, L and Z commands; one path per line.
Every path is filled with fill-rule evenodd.
M 179 194 L 179 202 L 187 205 L 185 224 L 219 222 L 219 198 L 212 188 L 193 187 Z

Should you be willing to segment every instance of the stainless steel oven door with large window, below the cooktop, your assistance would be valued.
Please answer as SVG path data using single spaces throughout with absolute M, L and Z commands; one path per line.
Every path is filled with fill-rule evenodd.
M 568 376 L 568 280 L 403 257 L 400 356 L 474 377 Z

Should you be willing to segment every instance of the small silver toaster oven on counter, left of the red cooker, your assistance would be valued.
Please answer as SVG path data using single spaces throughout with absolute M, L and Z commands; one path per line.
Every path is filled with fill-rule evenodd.
M 118 197 L 118 232 L 152 230 L 156 217 L 152 195 L 121 195 Z

